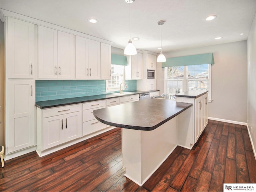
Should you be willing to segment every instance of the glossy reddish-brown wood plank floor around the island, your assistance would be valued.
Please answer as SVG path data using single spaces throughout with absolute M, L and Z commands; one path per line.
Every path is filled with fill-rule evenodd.
M 192 150 L 177 147 L 138 186 L 124 177 L 121 129 L 48 156 L 36 152 L 5 162 L 0 191 L 223 191 L 223 183 L 256 183 L 256 161 L 246 126 L 209 120 Z

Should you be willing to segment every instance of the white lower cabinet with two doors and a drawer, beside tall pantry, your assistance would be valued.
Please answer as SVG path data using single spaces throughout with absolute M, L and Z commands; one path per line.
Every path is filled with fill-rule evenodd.
M 43 150 L 82 137 L 81 105 L 46 109 L 43 116 Z

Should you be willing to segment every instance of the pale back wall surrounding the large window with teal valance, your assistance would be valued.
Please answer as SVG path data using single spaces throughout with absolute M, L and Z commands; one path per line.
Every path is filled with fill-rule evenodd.
M 208 117 L 236 122 L 247 122 L 247 51 L 246 41 L 179 50 L 164 53 L 166 58 L 213 53 L 212 103 Z M 256 62 L 256 60 L 255 60 Z M 256 74 L 256 73 L 255 73 Z M 164 93 L 164 71 L 157 65 L 157 89 Z

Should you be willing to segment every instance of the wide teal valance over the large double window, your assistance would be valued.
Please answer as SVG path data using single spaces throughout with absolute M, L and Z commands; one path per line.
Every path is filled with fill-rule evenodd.
M 166 58 L 162 67 L 214 64 L 212 53 Z

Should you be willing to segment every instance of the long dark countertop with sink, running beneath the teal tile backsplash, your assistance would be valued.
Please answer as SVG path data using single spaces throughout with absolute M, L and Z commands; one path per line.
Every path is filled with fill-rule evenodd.
M 159 91 L 159 90 L 154 90 L 154 91 Z M 117 98 L 117 97 L 129 96 L 129 95 L 143 94 L 143 93 L 149 93 L 154 91 L 130 91 L 132 92 L 131 94 L 126 94 L 122 96 L 117 96 L 112 94 L 102 94 L 102 95 L 93 95 L 93 96 L 85 96 L 85 97 L 56 99 L 56 100 L 50 100 L 50 101 L 38 101 L 36 102 L 36 107 L 40 109 L 60 107 L 65 105 L 72 105 L 72 104 L 79 104 L 79 103 Z

